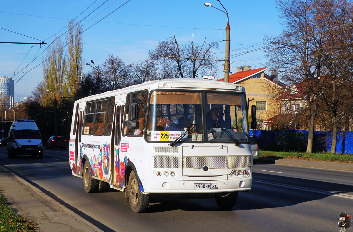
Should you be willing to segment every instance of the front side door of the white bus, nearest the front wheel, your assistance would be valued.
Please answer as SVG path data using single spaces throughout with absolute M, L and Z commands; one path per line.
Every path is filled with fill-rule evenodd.
M 121 129 L 122 129 L 122 120 L 124 117 L 124 103 L 115 104 L 115 122 L 114 122 L 114 151 L 113 158 L 110 159 L 110 174 L 111 180 L 113 180 L 113 186 L 122 189 L 122 181 L 124 180 L 125 175 L 125 163 L 121 162 L 119 159 L 120 153 L 120 138 L 121 138 Z

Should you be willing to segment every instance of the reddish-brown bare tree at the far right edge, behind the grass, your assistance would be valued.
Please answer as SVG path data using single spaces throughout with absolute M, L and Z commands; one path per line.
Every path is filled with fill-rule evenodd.
M 320 2 L 317 21 L 328 28 L 325 44 L 319 50 L 324 58 L 320 93 L 323 107 L 332 118 L 331 153 L 335 153 L 339 122 L 353 107 L 353 4 L 342 0 Z

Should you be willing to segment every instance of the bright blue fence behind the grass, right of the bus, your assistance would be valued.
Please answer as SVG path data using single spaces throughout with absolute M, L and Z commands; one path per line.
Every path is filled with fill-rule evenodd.
M 307 130 L 250 130 L 260 150 L 306 152 Z M 313 152 L 330 152 L 331 131 L 314 131 Z M 353 154 L 353 131 L 338 131 L 336 153 Z

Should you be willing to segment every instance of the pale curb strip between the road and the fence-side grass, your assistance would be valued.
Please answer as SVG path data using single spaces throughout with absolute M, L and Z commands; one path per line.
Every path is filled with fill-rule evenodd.
M 262 158 L 262 157 L 258 158 L 257 162 L 353 172 L 353 163 L 336 163 L 336 162 L 327 162 L 327 161 L 285 159 L 285 158 L 271 159 L 271 158 Z

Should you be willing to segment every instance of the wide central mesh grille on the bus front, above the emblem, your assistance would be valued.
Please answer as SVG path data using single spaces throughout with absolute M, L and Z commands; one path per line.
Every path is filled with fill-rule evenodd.
M 187 169 L 227 168 L 227 156 L 184 156 L 183 167 Z

